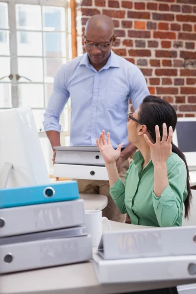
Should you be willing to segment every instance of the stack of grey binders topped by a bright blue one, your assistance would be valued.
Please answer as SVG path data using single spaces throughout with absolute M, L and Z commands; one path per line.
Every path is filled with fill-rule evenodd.
M 0 273 L 92 258 L 76 181 L 0 190 Z

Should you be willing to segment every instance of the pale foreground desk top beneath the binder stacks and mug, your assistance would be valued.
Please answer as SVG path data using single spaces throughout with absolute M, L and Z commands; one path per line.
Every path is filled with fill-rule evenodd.
M 110 221 L 112 231 L 144 228 Z M 114 294 L 160 289 L 195 280 L 100 285 L 92 262 L 30 270 L 0 277 L 1 294 Z

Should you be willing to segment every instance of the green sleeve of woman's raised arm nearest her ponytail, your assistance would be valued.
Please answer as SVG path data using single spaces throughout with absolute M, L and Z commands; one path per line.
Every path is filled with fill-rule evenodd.
M 187 170 L 183 162 L 174 162 L 168 168 L 169 185 L 160 197 L 152 192 L 152 202 L 157 221 L 161 227 L 175 226 L 183 211 L 187 196 Z

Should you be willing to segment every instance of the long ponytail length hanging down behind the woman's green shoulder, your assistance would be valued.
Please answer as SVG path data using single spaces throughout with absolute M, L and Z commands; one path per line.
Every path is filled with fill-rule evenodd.
M 184 212 L 184 217 L 186 219 L 189 218 L 189 212 L 190 212 L 190 203 L 192 200 L 192 193 L 191 193 L 191 186 L 190 186 L 190 176 L 189 176 L 189 168 L 187 165 L 187 161 L 186 158 L 183 154 L 183 152 L 172 143 L 172 152 L 176 153 L 185 163 L 186 165 L 186 169 L 187 169 L 187 197 L 184 201 L 184 208 L 185 208 L 185 212 Z

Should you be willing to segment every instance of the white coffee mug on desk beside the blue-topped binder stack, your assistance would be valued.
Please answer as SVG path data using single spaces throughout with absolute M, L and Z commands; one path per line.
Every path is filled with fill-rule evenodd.
M 98 247 L 103 233 L 103 221 L 107 221 L 107 231 L 111 231 L 109 220 L 106 217 L 102 217 L 101 210 L 85 210 L 85 218 L 87 232 L 92 238 L 92 245 L 93 247 Z

